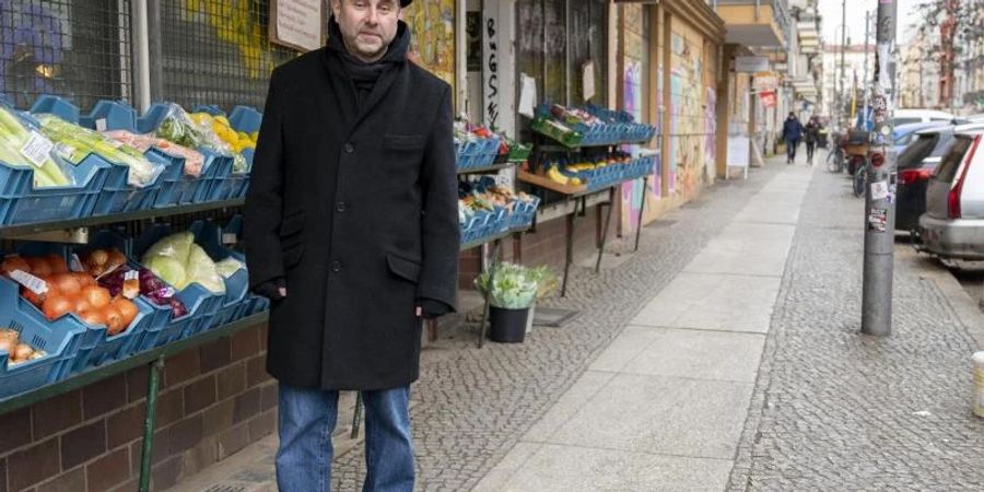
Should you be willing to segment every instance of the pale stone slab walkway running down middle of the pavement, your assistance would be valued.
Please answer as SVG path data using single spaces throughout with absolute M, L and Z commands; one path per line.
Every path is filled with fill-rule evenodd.
M 477 490 L 725 489 L 811 174 L 755 194 Z

